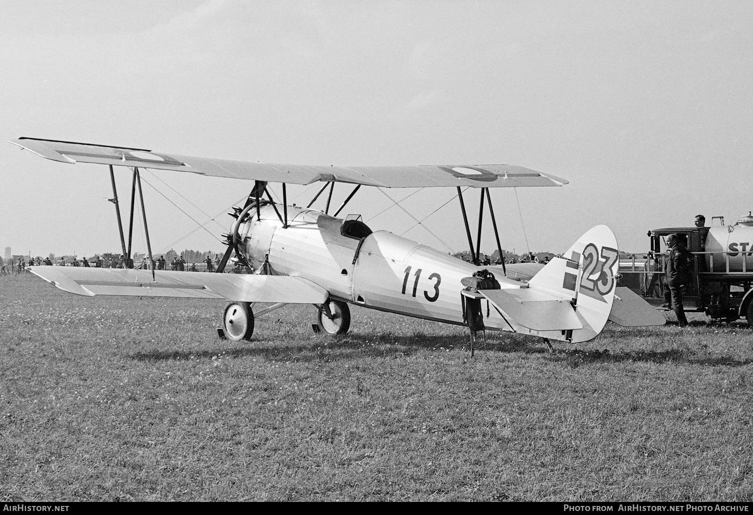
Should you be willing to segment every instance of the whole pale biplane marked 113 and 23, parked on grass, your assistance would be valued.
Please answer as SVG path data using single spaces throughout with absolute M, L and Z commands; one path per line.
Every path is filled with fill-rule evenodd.
M 467 325 L 471 342 L 480 330 L 532 334 L 570 343 L 596 337 L 611 319 L 620 325 L 660 325 L 665 319 L 627 288 L 617 288 L 619 251 L 604 225 L 587 231 L 546 265 L 501 264 L 480 267 L 481 227 L 486 200 L 500 257 L 503 255 L 491 190 L 496 187 L 560 187 L 562 178 L 514 165 L 300 166 L 164 154 L 143 148 L 113 147 L 48 139 L 20 138 L 12 144 L 61 163 L 108 165 L 123 256 L 130 258 L 117 203 L 114 166 L 133 172 L 131 227 L 139 189 L 149 260 L 146 212 L 139 169 L 191 172 L 254 181 L 244 205 L 233 207 L 224 234 L 227 251 L 217 273 L 73 267 L 28 267 L 57 288 L 85 297 L 185 297 L 228 301 L 218 334 L 248 340 L 255 316 L 288 303 L 316 306 L 316 328 L 344 334 L 349 304 L 449 324 Z M 323 182 L 306 206 L 288 206 L 288 184 Z M 282 203 L 267 184 L 282 184 Z M 352 191 L 329 214 L 335 184 Z M 362 186 L 455 187 L 468 236 L 471 261 L 437 251 L 387 230 L 372 230 L 358 218 L 338 218 Z M 462 188 L 480 190 L 474 247 Z M 325 209 L 311 206 L 328 189 Z M 232 254 L 255 273 L 222 273 Z M 152 267 L 154 269 L 154 267 Z M 615 293 L 617 292 L 617 295 Z M 256 303 L 271 303 L 258 309 Z M 472 345 L 471 345 L 472 349 Z

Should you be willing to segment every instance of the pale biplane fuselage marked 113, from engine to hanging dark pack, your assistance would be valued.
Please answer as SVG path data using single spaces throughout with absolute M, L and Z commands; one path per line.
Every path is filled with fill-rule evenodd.
M 239 248 L 255 267 L 267 258 L 271 273 L 309 279 L 349 303 L 463 323 L 461 280 L 478 267 L 386 230 L 343 235 L 343 219 L 312 209 L 288 208 L 288 216 L 283 228 L 264 206 L 261 220 L 242 224 Z M 503 288 L 521 285 L 501 282 Z

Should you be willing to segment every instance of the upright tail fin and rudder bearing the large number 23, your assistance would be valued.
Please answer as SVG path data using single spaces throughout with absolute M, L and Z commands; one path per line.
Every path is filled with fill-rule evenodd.
M 571 298 L 583 328 L 540 334 L 573 343 L 602 332 L 614 302 L 619 253 L 609 227 L 597 225 L 578 238 L 562 257 L 555 257 L 528 282 L 529 288 Z M 565 334 L 562 334 L 564 332 Z

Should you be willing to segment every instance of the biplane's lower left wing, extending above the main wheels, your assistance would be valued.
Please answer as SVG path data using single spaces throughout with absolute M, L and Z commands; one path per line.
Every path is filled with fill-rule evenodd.
M 184 297 L 243 302 L 321 304 L 328 292 L 306 279 L 250 274 L 123 270 L 117 268 L 26 267 L 72 294 L 128 297 Z

